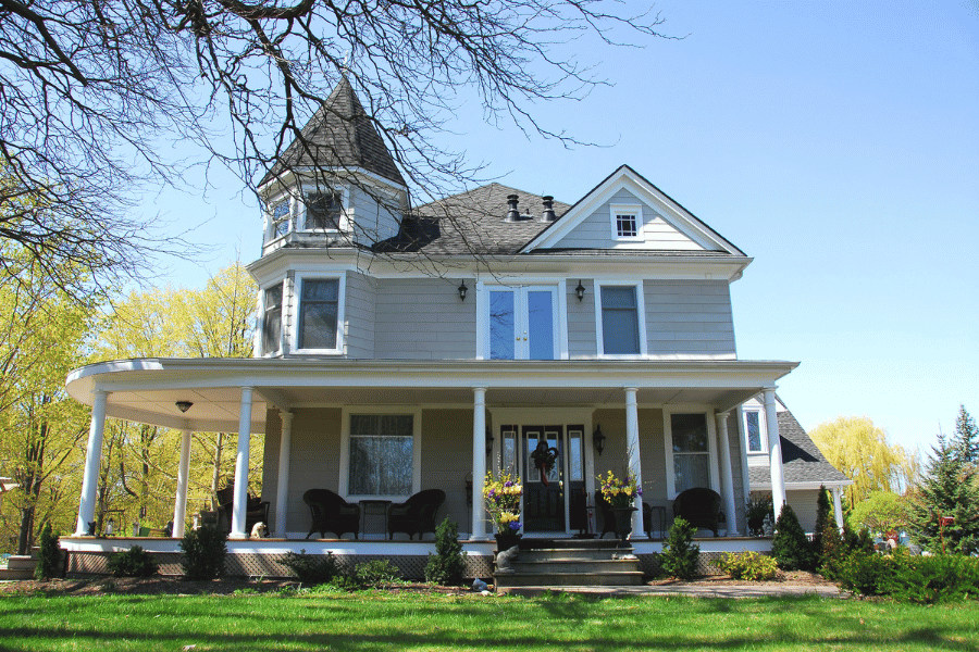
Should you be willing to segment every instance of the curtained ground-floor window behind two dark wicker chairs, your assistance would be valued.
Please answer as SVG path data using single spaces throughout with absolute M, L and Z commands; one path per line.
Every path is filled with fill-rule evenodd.
M 411 414 L 351 414 L 348 493 L 409 496 L 414 477 Z

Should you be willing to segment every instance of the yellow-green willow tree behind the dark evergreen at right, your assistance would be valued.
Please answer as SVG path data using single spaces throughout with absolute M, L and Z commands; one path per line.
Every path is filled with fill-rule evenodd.
M 830 464 L 853 485 L 844 489 L 850 509 L 872 491 L 901 491 L 914 484 L 917 455 L 899 444 L 866 416 L 841 416 L 816 426 L 809 437 Z

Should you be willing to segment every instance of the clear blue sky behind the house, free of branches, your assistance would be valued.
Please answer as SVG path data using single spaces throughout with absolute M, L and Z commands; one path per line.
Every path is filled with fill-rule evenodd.
M 979 2 L 656 7 L 685 38 L 585 51 L 612 86 L 536 106 L 604 147 L 467 104 L 444 142 L 567 202 L 628 163 L 754 256 L 732 286 L 739 356 L 802 362 L 779 393 L 806 428 L 865 414 L 927 450 L 959 403 L 979 416 Z M 259 253 L 258 210 L 213 180 L 147 200 L 218 247 L 164 280 Z

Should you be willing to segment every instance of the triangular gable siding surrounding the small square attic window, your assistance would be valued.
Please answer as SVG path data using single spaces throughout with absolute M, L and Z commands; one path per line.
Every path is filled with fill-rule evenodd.
M 645 242 L 614 240 L 611 237 L 611 204 L 631 204 L 643 208 L 643 227 Z M 611 200 L 602 204 L 594 213 L 583 220 L 574 230 L 563 237 L 556 248 L 571 249 L 660 249 L 660 250 L 701 250 L 701 244 L 680 233 L 666 222 L 653 206 L 640 201 L 632 192 L 619 189 Z

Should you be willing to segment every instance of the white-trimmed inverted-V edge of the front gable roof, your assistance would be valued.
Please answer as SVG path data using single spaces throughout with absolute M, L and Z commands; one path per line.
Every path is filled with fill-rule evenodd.
M 590 217 L 603 203 L 611 199 L 620 188 L 629 189 L 633 195 L 662 211 L 669 222 L 692 239 L 704 242 L 707 251 L 730 255 L 745 255 L 741 249 L 719 233 L 698 220 L 666 192 L 657 188 L 644 176 L 629 165 L 620 165 L 595 188 L 578 200 L 561 217 L 548 225 L 520 250 L 530 253 L 549 249 L 570 234 L 584 220 Z

